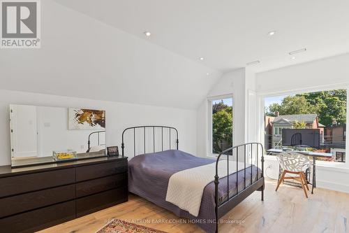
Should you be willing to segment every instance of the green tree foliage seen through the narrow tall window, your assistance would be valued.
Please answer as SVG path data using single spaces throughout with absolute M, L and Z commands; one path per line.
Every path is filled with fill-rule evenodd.
M 212 106 L 212 113 L 213 152 L 220 153 L 232 146 L 232 107 L 222 101 Z

